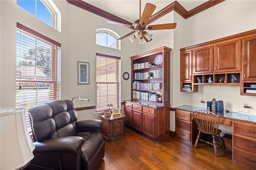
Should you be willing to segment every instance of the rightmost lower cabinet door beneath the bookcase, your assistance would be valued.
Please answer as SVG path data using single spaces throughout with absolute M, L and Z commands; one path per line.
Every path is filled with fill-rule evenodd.
M 147 114 L 147 113 L 143 113 L 142 115 L 143 115 L 143 118 L 142 118 L 143 133 L 151 138 L 155 138 L 156 116 Z

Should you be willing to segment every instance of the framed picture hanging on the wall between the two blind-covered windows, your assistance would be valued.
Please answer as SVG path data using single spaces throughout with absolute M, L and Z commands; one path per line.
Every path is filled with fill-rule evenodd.
M 88 85 L 89 81 L 89 63 L 77 61 L 77 84 Z

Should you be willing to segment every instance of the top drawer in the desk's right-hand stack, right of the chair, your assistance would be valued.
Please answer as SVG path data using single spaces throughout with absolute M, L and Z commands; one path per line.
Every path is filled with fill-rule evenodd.
M 247 136 L 250 138 L 256 138 L 256 126 L 242 124 L 242 123 L 234 123 L 234 133 L 241 134 L 243 136 Z

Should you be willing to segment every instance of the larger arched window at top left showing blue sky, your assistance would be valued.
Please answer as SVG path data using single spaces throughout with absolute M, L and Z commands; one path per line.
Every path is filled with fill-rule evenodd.
M 61 32 L 61 14 L 52 0 L 17 0 L 17 5 Z

